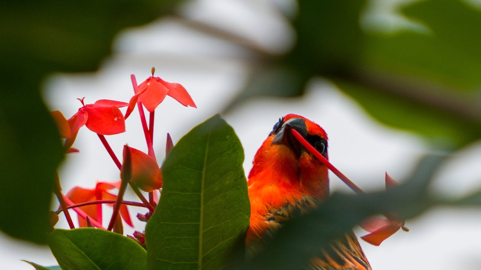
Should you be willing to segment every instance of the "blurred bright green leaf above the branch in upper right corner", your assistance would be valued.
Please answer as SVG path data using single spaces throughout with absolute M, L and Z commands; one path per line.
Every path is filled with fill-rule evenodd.
M 402 12 L 427 26 L 430 33 L 369 35 L 362 61 L 458 89 L 480 86 L 481 10 L 461 0 L 427 0 L 412 3 Z

